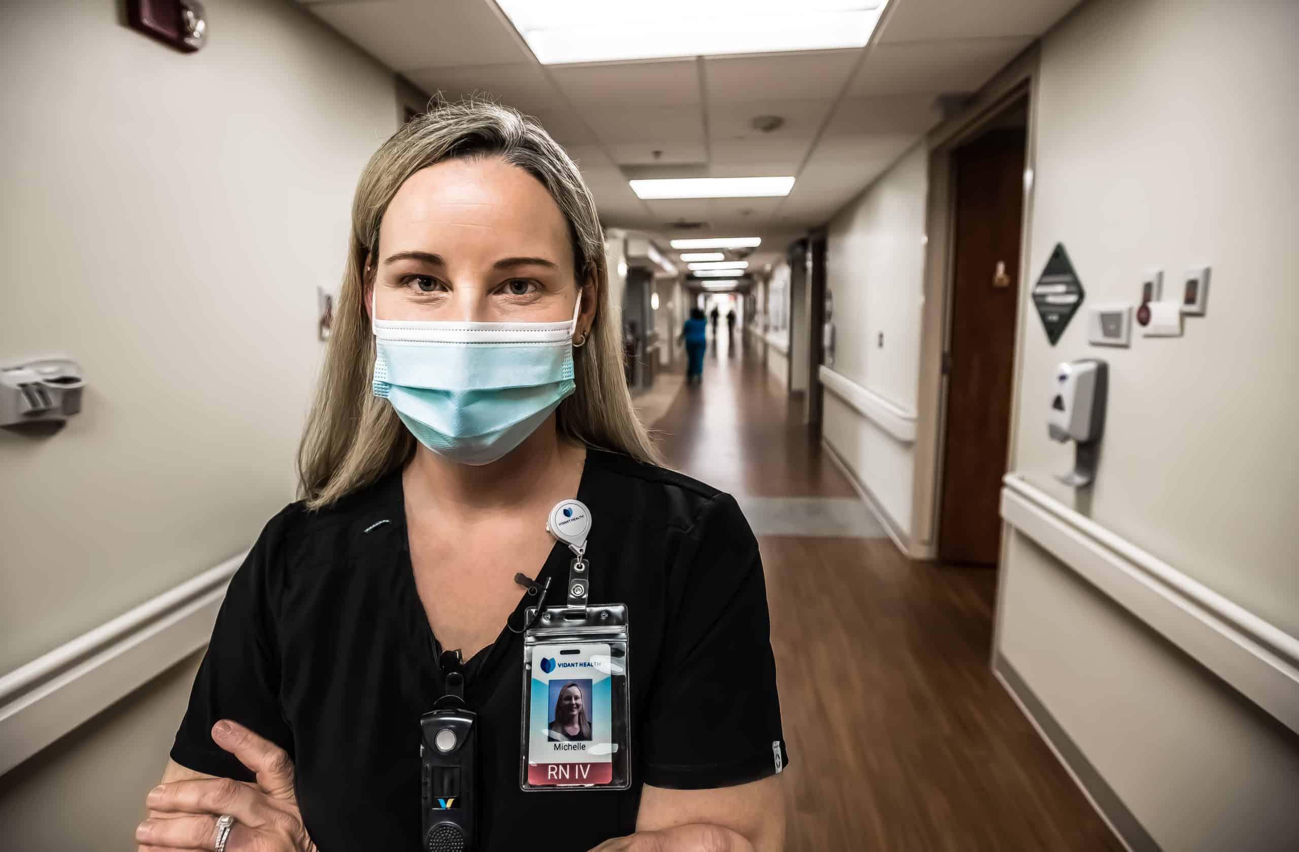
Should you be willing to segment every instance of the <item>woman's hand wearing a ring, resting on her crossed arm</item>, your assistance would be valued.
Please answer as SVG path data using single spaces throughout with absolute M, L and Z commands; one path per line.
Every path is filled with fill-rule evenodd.
M 212 739 L 256 773 L 257 783 L 201 778 L 158 784 L 144 800 L 149 818 L 135 830 L 142 852 L 214 849 L 217 817 L 225 813 L 235 818 L 226 852 L 317 852 L 297 810 L 294 762 L 284 749 L 225 720 L 212 727 Z

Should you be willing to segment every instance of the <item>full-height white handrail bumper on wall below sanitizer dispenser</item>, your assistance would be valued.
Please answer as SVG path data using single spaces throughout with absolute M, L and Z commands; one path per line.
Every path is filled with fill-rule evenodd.
M 1299 733 L 1299 639 L 1074 512 L 1020 474 L 1004 479 L 1002 518 Z

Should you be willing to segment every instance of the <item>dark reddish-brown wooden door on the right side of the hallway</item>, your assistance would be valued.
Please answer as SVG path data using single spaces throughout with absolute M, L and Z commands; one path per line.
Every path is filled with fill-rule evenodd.
M 996 564 L 1011 434 L 1015 308 L 1024 213 L 1022 127 L 953 152 L 952 312 L 938 556 Z

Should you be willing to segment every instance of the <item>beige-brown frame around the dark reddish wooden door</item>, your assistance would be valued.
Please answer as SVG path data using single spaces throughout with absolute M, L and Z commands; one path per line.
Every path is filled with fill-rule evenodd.
M 953 222 L 956 218 L 955 169 L 952 155 L 1028 100 L 1029 119 L 1025 138 L 1024 212 L 1020 222 L 1020 281 L 1015 308 L 1013 364 L 1011 386 L 1011 430 L 1005 469 L 1015 466 L 1018 432 L 1020 377 L 1024 360 L 1025 294 L 1028 292 L 1029 247 L 1031 242 L 1035 181 L 1037 87 L 1039 47 L 1030 45 L 1002 70 L 955 116 L 930 131 L 929 200 L 926 205 L 925 301 L 921 312 L 920 386 L 916 412 L 914 487 L 912 491 L 912 558 L 931 560 L 940 535 L 943 455 L 947 429 L 947 375 L 943 357 L 951 345 L 952 274 L 955 261 Z M 1005 552 L 1003 531 L 1002 552 Z

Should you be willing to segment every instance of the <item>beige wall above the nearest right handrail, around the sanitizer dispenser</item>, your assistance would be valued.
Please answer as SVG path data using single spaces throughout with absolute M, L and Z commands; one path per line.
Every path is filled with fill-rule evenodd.
M 1228 19 L 1225 19 L 1228 18 Z M 1025 317 L 1015 466 L 1061 500 L 1047 438 L 1055 364 L 1109 361 L 1100 475 L 1085 514 L 1299 634 L 1299 4 L 1096 3 L 1042 45 L 1029 275 L 1063 242 L 1087 305 L 1165 296 L 1212 265 L 1208 316 L 1174 339 L 1056 347 Z M 1031 282 L 1028 282 L 1031 283 Z

